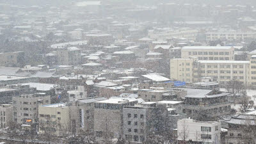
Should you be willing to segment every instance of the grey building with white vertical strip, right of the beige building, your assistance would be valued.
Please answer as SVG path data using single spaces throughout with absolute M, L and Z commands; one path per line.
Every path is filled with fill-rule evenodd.
M 86 132 L 94 132 L 94 102 L 106 100 L 104 97 L 86 98 L 73 100 L 67 106 L 70 108 L 70 122 L 72 124 L 72 132 L 79 133 L 80 130 Z

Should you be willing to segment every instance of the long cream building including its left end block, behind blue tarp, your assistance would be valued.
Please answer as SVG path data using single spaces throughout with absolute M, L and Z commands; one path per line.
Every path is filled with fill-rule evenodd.
M 254 74 L 252 71 L 253 64 L 250 61 L 197 61 L 191 58 L 171 60 L 170 75 L 173 80 L 186 82 L 198 82 L 202 77 L 212 77 L 213 81 L 220 84 L 232 79 L 248 84 L 250 81 L 248 77 L 250 74 Z M 250 79 L 254 79 L 254 77 L 250 77 Z

